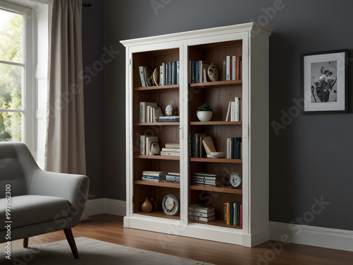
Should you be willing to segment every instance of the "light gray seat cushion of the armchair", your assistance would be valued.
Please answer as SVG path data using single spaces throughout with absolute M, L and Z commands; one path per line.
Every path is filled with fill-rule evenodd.
M 0 199 L 0 223 L 6 221 L 6 201 Z M 56 196 L 22 195 L 11 197 L 11 229 L 35 223 L 65 218 L 70 215 L 70 203 Z M 6 230 L 5 225 L 0 230 Z

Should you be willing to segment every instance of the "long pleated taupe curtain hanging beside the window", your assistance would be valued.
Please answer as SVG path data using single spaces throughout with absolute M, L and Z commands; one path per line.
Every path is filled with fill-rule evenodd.
M 45 170 L 85 175 L 82 0 L 49 0 Z

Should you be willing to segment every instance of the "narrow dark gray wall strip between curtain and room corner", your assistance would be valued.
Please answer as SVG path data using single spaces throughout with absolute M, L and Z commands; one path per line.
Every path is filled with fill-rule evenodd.
M 104 2 L 83 8 L 83 83 L 85 95 L 86 168 L 90 199 L 104 197 Z

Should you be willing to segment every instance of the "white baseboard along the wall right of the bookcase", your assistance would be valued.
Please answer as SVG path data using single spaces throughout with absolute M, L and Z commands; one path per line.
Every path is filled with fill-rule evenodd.
M 351 230 L 270 221 L 270 240 L 353 251 Z

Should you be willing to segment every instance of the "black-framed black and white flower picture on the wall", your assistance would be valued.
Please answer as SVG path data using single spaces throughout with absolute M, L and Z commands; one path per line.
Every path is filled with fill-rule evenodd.
M 348 49 L 301 54 L 304 114 L 348 112 Z

